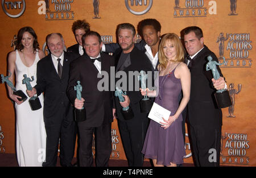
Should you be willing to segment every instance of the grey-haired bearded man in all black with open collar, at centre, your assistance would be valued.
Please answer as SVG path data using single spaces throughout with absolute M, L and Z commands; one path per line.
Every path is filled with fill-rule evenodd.
M 127 93 L 126 96 L 123 96 L 125 101 L 119 102 L 118 97 L 115 97 L 118 128 L 129 166 L 142 166 L 143 154 L 141 151 L 148 126 L 148 113 L 141 113 L 139 101 L 142 100 L 143 96 L 141 92 L 139 92 L 139 88 L 135 88 L 136 79 L 134 78 L 137 77 L 129 76 L 129 72 L 140 72 L 143 70 L 147 73 L 154 69 L 145 53 L 134 46 L 135 28 L 132 24 L 119 24 L 117 34 L 121 49 L 119 48 L 114 52 L 116 72 L 125 72 L 127 76 L 127 88 L 118 86 L 118 88 L 121 88 Z M 148 80 L 150 80 L 150 78 L 148 78 Z M 116 81 L 118 81 L 118 78 L 116 78 Z M 123 84 L 123 86 L 124 85 L 125 84 Z M 131 85 L 133 85 L 133 87 L 130 87 Z M 121 113 L 122 107 L 127 106 L 131 107 L 134 113 L 134 117 L 129 120 L 125 120 Z

